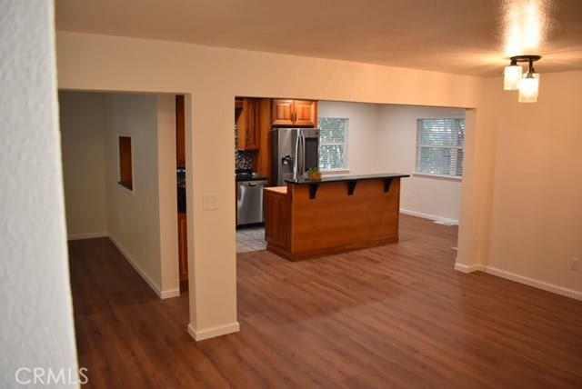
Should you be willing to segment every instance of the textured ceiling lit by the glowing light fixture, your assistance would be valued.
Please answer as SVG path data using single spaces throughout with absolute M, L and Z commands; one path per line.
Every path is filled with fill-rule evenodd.
M 57 30 L 461 75 L 582 69 L 582 0 L 55 0 Z

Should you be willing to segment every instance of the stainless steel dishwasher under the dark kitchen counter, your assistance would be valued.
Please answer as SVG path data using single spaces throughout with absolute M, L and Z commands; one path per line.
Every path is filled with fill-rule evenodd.
M 257 224 L 263 215 L 263 188 L 266 180 L 236 182 L 236 225 Z

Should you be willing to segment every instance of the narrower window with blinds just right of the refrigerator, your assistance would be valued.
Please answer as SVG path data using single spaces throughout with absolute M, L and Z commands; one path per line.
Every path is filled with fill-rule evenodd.
M 347 121 L 340 117 L 319 118 L 319 169 L 347 169 Z

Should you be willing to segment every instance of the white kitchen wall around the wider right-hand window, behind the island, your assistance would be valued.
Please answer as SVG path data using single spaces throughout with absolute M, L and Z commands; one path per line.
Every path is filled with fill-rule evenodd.
M 465 116 L 464 109 L 382 105 L 377 144 L 383 171 L 412 174 L 416 165 L 416 119 Z M 461 211 L 460 181 L 411 175 L 402 179 L 403 212 L 458 224 Z

